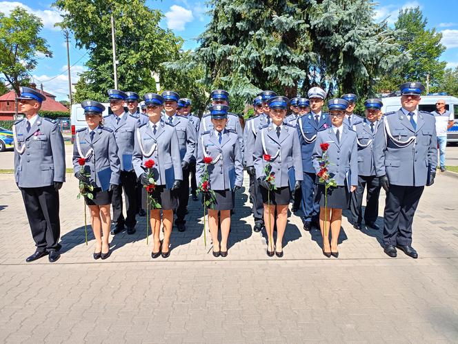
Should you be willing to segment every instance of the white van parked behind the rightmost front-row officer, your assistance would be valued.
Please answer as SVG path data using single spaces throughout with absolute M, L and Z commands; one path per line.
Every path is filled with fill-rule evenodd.
M 428 113 L 436 110 L 436 102 L 439 99 L 446 101 L 446 109 L 453 114 L 455 124 L 447 131 L 447 142 L 458 142 L 458 98 L 450 95 L 422 95 L 418 106 L 421 111 Z M 381 107 L 382 113 L 398 111 L 401 108 L 401 97 L 381 98 L 384 106 Z

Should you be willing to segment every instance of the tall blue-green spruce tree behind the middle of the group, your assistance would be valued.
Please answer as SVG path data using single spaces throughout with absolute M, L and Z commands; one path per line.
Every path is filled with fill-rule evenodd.
M 373 21 L 370 0 L 210 0 L 195 57 L 205 82 L 249 99 L 260 89 L 293 97 L 319 85 L 372 95 L 375 79 L 408 61 L 397 32 Z

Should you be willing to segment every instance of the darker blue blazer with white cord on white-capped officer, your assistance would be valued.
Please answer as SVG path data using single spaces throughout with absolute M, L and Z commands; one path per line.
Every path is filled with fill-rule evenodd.
M 302 125 L 299 125 L 299 121 Z M 299 144 L 301 145 L 302 170 L 306 173 L 315 173 L 312 162 L 312 153 L 315 147 L 317 133 L 323 129 L 331 127 L 331 120 L 327 113 L 321 113 L 318 125 L 312 113 L 303 115 L 297 120 L 297 135 L 299 135 Z M 314 139 L 315 137 L 315 139 Z M 311 141 L 311 142 L 310 142 Z

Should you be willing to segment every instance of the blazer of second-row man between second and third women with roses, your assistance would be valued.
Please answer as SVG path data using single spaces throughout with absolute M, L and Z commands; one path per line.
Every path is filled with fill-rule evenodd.
M 162 120 L 168 122 L 168 115 L 163 115 Z M 197 133 L 194 124 L 188 117 L 175 115 L 172 120 L 172 127 L 177 131 L 180 159 L 190 162 L 195 154 Z

